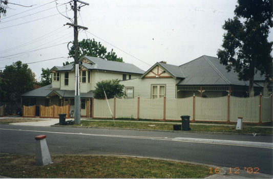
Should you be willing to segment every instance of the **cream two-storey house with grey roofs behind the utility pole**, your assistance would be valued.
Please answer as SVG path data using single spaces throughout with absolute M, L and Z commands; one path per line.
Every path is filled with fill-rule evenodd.
M 83 56 L 79 70 L 81 116 L 89 117 L 92 109 L 93 91 L 96 83 L 102 80 L 129 80 L 139 78 L 144 71 L 134 64 L 108 61 L 101 58 Z M 65 106 L 74 108 L 75 97 L 75 69 L 74 64 L 65 66 L 54 66 L 52 83 L 50 85 L 34 89 L 22 95 L 25 102 L 31 98 L 28 105 L 43 106 Z

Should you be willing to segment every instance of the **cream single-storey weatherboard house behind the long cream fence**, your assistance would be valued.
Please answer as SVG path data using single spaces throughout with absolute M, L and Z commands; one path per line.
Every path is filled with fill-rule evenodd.
M 237 97 L 248 96 L 248 81 L 238 80 L 233 70 L 227 73 L 225 66 L 216 57 L 203 55 L 180 66 L 157 62 L 139 78 L 120 83 L 125 86 L 127 99 L 137 98 L 185 98 L 221 97 L 228 94 Z M 272 94 L 272 80 L 255 75 L 255 95 Z

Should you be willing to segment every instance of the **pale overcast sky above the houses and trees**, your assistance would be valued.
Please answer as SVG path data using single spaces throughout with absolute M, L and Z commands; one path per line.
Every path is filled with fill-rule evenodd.
M 113 49 L 124 62 L 144 71 L 159 61 L 181 65 L 202 55 L 217 57 L 225 33 L 222 26 L 234 17 L 237 5 L 237 0 L 82 2 L 89 5 L 80 8 L 78 25 L 88 30 L 79 31 L 79 41 L 94 38 L 108 52 Z M 68 58 L 73 28 L 64 26 L 74 20 L 69 1 L 9 3 L 17 5 L 9 4 L 6 16 L 1 14 L 0 70 L 20 60 L 40 81 L 42 68 L 74 61 Z M 272 30 L 268 38 L 273 39 Z

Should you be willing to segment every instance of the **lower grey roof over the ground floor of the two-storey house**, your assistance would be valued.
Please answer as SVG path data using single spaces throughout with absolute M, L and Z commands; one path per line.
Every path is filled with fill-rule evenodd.
M 54 88 L 52 88 L 51 84 L 44 86 L 44 87 L 34 89 L 34 90 L 27 92 L 21 96 L 22 97 L 46 98 L 52 93 L 56 93 L 58 96 L 60 96 L 62 98 L 75 97 L 75 91 L 54 89 Z M 92 98 L 93 96 L 94 96 L 93 91 L 89 91 L 88 93 L 80 93 L 81 98 Z

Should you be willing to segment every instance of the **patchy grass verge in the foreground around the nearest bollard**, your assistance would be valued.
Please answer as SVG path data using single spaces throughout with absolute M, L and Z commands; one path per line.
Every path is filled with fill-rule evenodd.
M 0 154 L 0 175 L 14 178 L 205 178 L 215 169 L 180 162 L 98 155 L 53 155 L 36 166 L 34 155 Z M 211 173 L 210 173 L 211 172 Z

